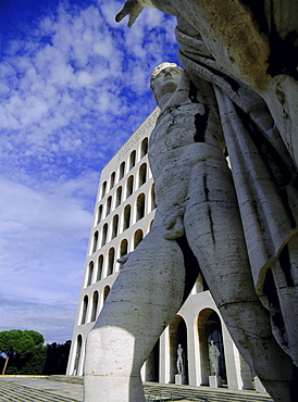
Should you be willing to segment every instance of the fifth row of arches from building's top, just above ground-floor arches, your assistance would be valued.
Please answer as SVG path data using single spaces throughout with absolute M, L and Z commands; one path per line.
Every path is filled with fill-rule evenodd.
M 90 302 L 88 294 L 84 296 L 80 314 L 78 317 L 78 325 L 94 323 L 97 319 L 99 312 L 102 309 L 102 305 L 110 292 L 110 289 L 111 289 L 110 286 L 107 285 L 103 288 L 101 294 L 99 293 L 98 290 L 95 290 L 92 296 L 90 297 L 91 300 Z

